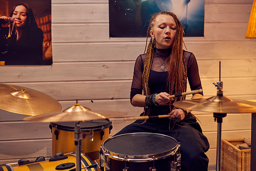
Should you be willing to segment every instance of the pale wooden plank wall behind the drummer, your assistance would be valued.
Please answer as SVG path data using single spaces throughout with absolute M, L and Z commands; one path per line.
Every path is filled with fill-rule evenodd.
M 256 39 L 245 39 L 253 0 L 205 0 L 204 37 L 184 37 L 198 60 L 205 98 L 216 96 L 212 82 L 221 81 L 224 96 L 256 99 Z M 136 57 L 145 38 L 109 37 L 108 0 L 52 0 L 52 66 L 2 66 L 0 83 L 24 86 L 58 100 L 62 109 L 79 103 L 94 110 L 127 112 Z M 189 96 L 187 97 L 189 99 Z M 212 113 L 194 114 L 210 142 L 209 164 L 216 164 L 217 122 Z M 27 116 L 0 111 L 0 164 L 22 158 L 51 157 L 49 123 L 25 122 Z M 131 121 L 112 120 L 114 135 Z M 222 138 L 250 137 L 251 114 L 228 114 Z

